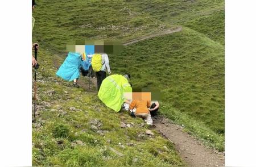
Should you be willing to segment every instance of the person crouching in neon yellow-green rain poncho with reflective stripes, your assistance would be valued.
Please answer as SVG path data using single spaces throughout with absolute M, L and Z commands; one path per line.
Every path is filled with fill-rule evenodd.
M 132 93 L 129 80 L 130 74 L 124 74 L 123 76 L 114 74 L 106 77 L 101 83 L 98 97 L 109 108 L 116 112 L 120 111 L 123 102 L 129 99 L 127 94 Z

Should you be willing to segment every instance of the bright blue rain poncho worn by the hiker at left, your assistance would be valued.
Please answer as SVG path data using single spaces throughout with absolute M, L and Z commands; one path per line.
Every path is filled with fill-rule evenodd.
M 78 53 L 69 52 L 67 58 L 56 72 L 56 75 L 66 81 L 73 81 L 79 78 L 81 62 L 81 56 Z

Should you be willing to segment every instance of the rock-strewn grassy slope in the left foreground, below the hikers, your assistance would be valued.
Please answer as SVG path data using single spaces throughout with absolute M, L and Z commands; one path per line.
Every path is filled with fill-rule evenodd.
M 100 102 L 96 93 L 57 78 L 52 55 L 40 50 L 33 166 L 184 165 L 170 141 L 153 130 L 154 136 L 145 134 L 148 127 L 140 127 L 142 119 L 115 113 Z M 121 128 L 122 122 L 132 127 Z

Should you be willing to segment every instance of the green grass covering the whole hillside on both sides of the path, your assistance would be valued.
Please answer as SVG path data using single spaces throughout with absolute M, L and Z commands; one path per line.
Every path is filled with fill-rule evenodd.
M 161 114 L 184 124 L 185 131 L 206 145 L 224 151 L 223 0 L 37 3 L 33 41 L 40 44 L 38 80 L 43 82 L 38 82 L 40 120 L 33 124 L 34 166 L 184 165 L 157 133 L 138 137 L 146 130 L 137 126 L 142 120 L 113 113 L 95 93 L 70 87 L 71 83 L 55 76 L 53 66 L 63 62 L 66 44 L 72 41 L 127 41 L 178 26 L 183 27 L 181 32 L 140 41 L 109 55 L 112 72 L 131 73 L 134 88 L 160 89 Z M 77 110 L 70 110 L 71 106 Z M 88 123 L 96 118 L 103 124 L 101 130 L 108 131 L 105 136 L 90 130 Z M 120 122 L 136 126 L 122 129 Z M 164 146 L 168 151 L 163 151 Z

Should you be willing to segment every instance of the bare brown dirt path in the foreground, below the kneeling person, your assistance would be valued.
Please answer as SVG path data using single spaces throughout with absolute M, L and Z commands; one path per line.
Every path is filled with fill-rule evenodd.
M 195 137 L 183 132 L 183 127 L 170 122 L 163 116 L 154 116 L 156 130 L 175 145 L 181 158 L 188 166 L 225 166 L 224 153 L 205 147 Z

